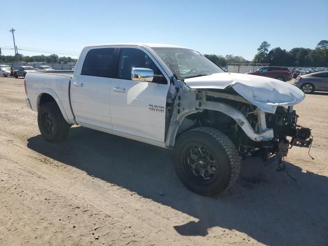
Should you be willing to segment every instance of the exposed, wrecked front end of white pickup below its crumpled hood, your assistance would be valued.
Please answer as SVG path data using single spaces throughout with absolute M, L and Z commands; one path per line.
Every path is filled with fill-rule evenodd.
M 309 148 L 312 144 L 311 129 L 297 125 L 293 106 L 277 106 L 274 113 L 264 112 L 232 88 L 197 90 L 196 110 L 196 114 L 186 117 L 188 122 L 224 132 L 243 158 L 252 155 L 268 160 L 276 156 L 279 160 L 293 146 Z M 182 124 L 181 132 L 183 128 Z

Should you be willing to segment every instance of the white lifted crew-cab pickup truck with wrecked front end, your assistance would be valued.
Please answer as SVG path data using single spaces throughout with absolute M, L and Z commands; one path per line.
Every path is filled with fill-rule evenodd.
M 87 46 L 73 75 L 29 72 L 25 90 L 46 140 L 64 140 L 71 125 L 80 125 L 172 149 L 178 177 L 203 196 L 231 187 L 242 157 L 281 160 L 289 146 L 312 142 L 293 110 L 304 99 L 301 90 L 224 72 L 179 46 Z

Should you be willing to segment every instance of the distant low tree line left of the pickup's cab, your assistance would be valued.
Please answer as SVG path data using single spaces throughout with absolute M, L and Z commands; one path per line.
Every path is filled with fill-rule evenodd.
M 26 63 L 33 63 L 33 62 L 45 62 L 50 64 L 67 64 L 77 61 L 77 59 L 74 59 L 70 56 L 61 56 L 59 57 L 56 54 L 52 55 L 33 55 L 33 56 L 25 56 L 22 54 L 18 54 L 16 56 L 14 55 L 1 55 L 0 56 L 0 62 L 1 63 L 15 63 L 19 61 L 24 61 Z

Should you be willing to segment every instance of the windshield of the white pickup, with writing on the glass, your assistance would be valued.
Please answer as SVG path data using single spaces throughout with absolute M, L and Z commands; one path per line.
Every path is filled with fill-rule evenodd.
M 179 78 L 190 78 L 224 71 L 197 51 L 185 48 L 152 48 Z

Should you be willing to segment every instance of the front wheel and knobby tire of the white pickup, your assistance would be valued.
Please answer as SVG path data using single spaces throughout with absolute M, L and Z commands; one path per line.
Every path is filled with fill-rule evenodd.
M 174 146 L 173 162 L 183 185 L 202 196 L 215 196 L 229 189 L 240 172 L 240 158 L 233 142 L 208 127 L 183 133 Z

